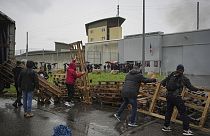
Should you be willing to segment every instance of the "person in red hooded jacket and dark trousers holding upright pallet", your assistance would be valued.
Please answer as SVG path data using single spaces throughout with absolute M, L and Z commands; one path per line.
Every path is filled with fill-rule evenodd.
M 77 78 L 81 77 L 84 74 L 85 72 L 76 71 L 76 60 L 72 60 L 72 62 L 68 65 L 68 68 L 66 70 L 66 88 L 68 90 L 68 102 L 66 102 L 65 104 L 67 106 L 74 106 L 72 98 L 74 97 L 75 92 L 75 81 Z

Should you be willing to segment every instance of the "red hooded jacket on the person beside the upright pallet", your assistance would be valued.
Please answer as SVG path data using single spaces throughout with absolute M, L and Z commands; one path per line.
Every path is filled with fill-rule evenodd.
M 76 79 L 82 75 L 82 73 L 76 72 L 76 64 L 70 63 L 66 73 L 66 84 L 74 85 Z

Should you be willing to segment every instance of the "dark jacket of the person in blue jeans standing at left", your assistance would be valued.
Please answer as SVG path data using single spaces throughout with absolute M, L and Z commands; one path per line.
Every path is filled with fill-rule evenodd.
M 19 87 L 22 91 L 34 91 L 38 89 L 38 76 L 33 69 L 23 69 L 19 77 Z

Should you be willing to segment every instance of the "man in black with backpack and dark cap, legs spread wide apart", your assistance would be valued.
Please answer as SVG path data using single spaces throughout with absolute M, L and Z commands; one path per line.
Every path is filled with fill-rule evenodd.
M 162 131 L 171 131 L 170 120 L 174 106 L 176 106 L 183 121 L 183 135 L 193 135 L 193 132 L 189 129 L 189 117 L 186 114 L 186 106 L 182 100 L 181 92 L 184 86 L 190 91 L 198 91 L 202 89 L 192 86 L 190 80 L 183 75 L 183 72 L 184 66 L 180 64 L 177 66 L 176 71 L 172 72 L 161 82 L 161 84 L 167 89 L 167 108 L 165 114 L 165 123 Z

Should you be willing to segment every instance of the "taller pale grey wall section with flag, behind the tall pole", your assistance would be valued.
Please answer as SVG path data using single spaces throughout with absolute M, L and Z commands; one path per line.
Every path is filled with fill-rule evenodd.
M 161 62 L 162 33 L 149 33 L 145 37 L 145 61 L 149 61 L 150 67 L 145 67 L 146 72 L 159 72 Z M 125 36 L 119 42 L 119 61 L 142 61 L 142 35 Z M 150 48 L 151 47 L 151 48 Z M 158 67 L 154 67 L 154 61 L 158 61 Z

